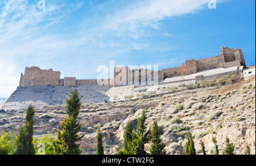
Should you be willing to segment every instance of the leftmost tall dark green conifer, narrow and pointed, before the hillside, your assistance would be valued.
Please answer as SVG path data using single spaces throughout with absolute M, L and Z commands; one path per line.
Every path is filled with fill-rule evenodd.
M 33 141 L 33 117 L 35 115 L 35 109 L 31 105 L 27 109 L 25 125 L 20 127 L 18 135 L 18 146 L 15 148 L 14 155 L 35 155 L 35 149 Z

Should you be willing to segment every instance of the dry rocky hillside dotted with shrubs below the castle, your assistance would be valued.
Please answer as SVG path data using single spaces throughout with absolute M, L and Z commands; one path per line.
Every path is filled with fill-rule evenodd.
M 136 126 L 137 118 L 145 109 L 148 129 L 154 120 L 158 121 L 170 154 L 184 154 L 188 131 L 192 132 L 197 154 L 201 154 L 200 140 L 210 154 L 212 137 L 216 137 L 220 152 L 228 137 L 236 147 L 236 154 L 243 154 L 246 145 L 251 147 L 251 154 L 255 154 L 255 78 L 224 85 L 214 84 L 216 80 L 212 82 L 161 87 L 161 95 L 130 101 L 83 104 L 79 115 L 81 133 L 86 133 L 80 141 L 83 153 L 96 154 L 96 125 L 100 122 L 104 129 L 105 154 L 114 154 L 114 146 L 122 145 L 127 122 Z M 23 109 L 0 110 L 0 131 L 18 133 L 25 114 Z M 56 135 L 56 127 L 64 115 L 64 105 L 36 109 L 35 137 Z M 149 146 L 147 144 L 146 148 Z

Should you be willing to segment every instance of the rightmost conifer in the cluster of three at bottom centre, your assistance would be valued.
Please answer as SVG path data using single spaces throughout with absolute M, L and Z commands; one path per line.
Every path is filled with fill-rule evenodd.
M 151 131 L 150 154 L 166 155 L 166 150 L 164 150 L 165 147 L 166 147 L 166 144 L 163 143 L 163 140 L 161 138 L 161 133 L 158 127 L 158 123 L 154 121 L 154 125 Z

